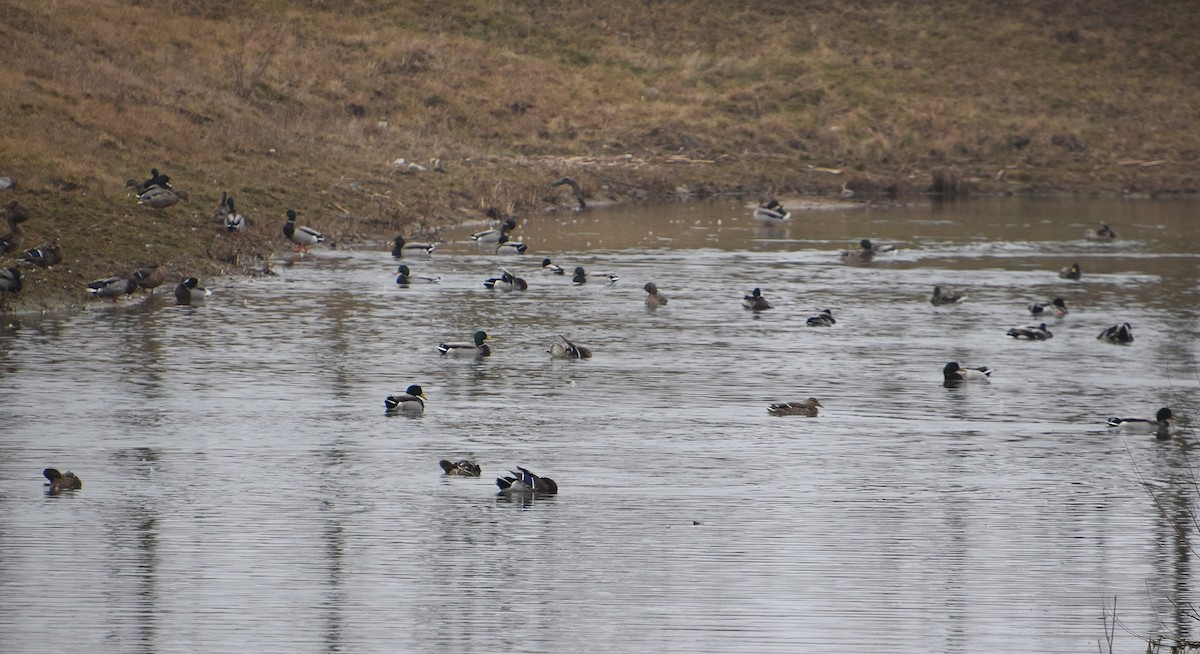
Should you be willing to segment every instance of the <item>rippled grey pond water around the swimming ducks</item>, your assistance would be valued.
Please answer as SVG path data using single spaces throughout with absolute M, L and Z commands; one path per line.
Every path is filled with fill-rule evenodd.
M 202 306 L 6 317 L 0 652 L 1096 652 L 1114 598 L 1117 650 L 1196 637 L 1196 529 L 1156 508 L 1195 510 L 1195 438 L 1105 419 L 1200 402 L 1198 210 L 623 206 L 522 217 L 520 257 L 444 230 L 407 262 L 437 284 L 319 250 Z M 844 264 L 860 238 L 899 251 Z M 485 289 L 500 265 L 528 292 Z M 1006 336 L 1055 296 L 1054 338 Z M 437 352 L 479 329 L 491 358 Z M 947 361 L 995 372 L 946 388 Z M 409 384 L 426 413 L 385 415 Z M 515 466 L 559 494 L 497 497 Z

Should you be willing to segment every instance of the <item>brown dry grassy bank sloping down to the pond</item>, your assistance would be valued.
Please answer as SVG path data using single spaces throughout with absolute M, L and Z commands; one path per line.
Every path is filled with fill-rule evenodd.
M 0 0 L 10 302 L 164 263 L 236 271 L 282 214 L 342 244 L 589 198 L 1200 188 L 1188 2 Z M 425 170 L 394 162 L 403 158 Z M 439 160 L 443 172 L 432 169 Z M 134 206 L 151 167 L 191 200 Z M 230 244 L 222 191 L 250 216 Z M 2 265 L 10 263 L 7 256 Z

